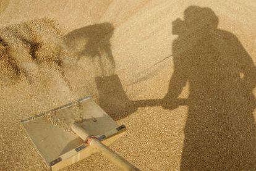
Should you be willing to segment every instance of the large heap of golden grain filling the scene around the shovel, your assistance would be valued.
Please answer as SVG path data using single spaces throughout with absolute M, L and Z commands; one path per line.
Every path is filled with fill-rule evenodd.
M 249 167 L 254 167 L 251 164 L 254 161 L 247 159 L 252 151 L 246 148 L 254 150 L 252 144 L 255 137 L 248 136 L 254 135 L 255 110 L 251 96 L 256 93 L 254 77 L 249 79 L 250 88 L 245 86 L 244 89 L 231 79 L 236 77 L 240 80 L 236 70 L 240 63 L 231 54 L 242 52 L 243 57 L 247 56 L 249 62 L 246 66 L 250 66 L 245 67 L 247 69 L 252 69 L 256 63 L 254 1 L 4 2 L 0 6 L 0 78 L 4 80 L 0 83 L 1 170 L 47 170 L 20 125 L 20 120 L 87 95 L 92 95 L 109 115 L 127 126 L 127 134 L 111 148 L 139 169 L 179 170 L 183 167 L 190 170 L 186 167 L 194 165 L 197 167 L 195 170 L 200 170 L 194 160 L 209 170 L 218 170 L 217 167 L 221 167 L 219 170 L 250 170 L 252 168 Z M 201 28 L 212 18 L 204 14 L 200 15 L 205 17 L 202 20 L 198 17 L 198 10 L 190 10 L 190 19 L 197 24 L 187 23 L 191 32 L 177 36 L 173 22 L 177 18 L 189 21 L 189 18 L 184 19 L 184 11 L 190 6 L 210 8 L 218 17 L 218 28 L 206 34 Z M 181 25 L 176 26 L 176 31 L 182 30 Z M 208 39 L 212 35 L 216 35 L 215 39 Z M 226 43 L 232 39 L 235 40 L 231 41 L 233 43 Z M 36 50 L 32 48 L 35 47 L 34 43 L 40 44 Z M 213 46 L 208 46 L 211 43 Z M 234 48 L 239 43 L 237 47 L 242 48 Z M 189 48 L 191 44 L 194 44 L 192 49 Z M 195 60 L 189 58 L 187 51 L 193 54 Z M 38 62 L 33 59 L 33 53 Z M 207 75 L 208 81 L 197 81 L 196 78 L 201 77 L 190 77 L 190 83 L 194 78 L 200 87 L 198 89 L 190 91 L 189 84 L 184 86 L 179 98 L 191 97 L 190 93 L 193 92 L 192 104 L 176 106 L 176 109 L 132 106 L 130 100 L 161 99 L 166 95 L 171 75 L 179 68 L 174 67 L 174 63 L 178 61 L 179 65 L 182 60 L 169 57 L 154 64 L 171 54 L 177 57 L 180 53 L 184 53 L 184 59 L 188 62 L 185 69 L 193 73 L 192 76 L 201 72 L 201 76 L 206 77 L 212 73 Z M 226 60 L 217 60 L 219 54 L 223 57 L 221 59 Z M 184 62 L 180 64 L 184 67 Z M 245 75 L 250 73 L 254 72 L 246 72 Z M 220 78 L 228 79 L 220 81 Z M 215 86 L 208 86 L 209 83 Z M 221 86 L 216 86 L 217 83 Z M 193 105 L 198 102 L 197 94 L 200 95 L 207 88 L 210 88 L 208 94 L 215 93 L 216 96 L 209 98 L 207 93 L 203 94 L 204 101 Z M 250 96 L 247 96 L 249 93 Z M 232 114 L 236 116 L 232 117 Z M 231 127 L 231 123 L 235 124 Z M 200 127 L 202 129 L 197 125 L 203 125 Z M 202 134 L 198 133 L 200 131 Z M 223 144 L 226 141 L 222 143 L 221 140 L 227 140 L 226 137 L 231 138 L 225 147 Z M 193 141 L 195 138 L 198 143 Z M 201 150 L 200 155 L 187 157 L 191 146 Z M 221 153 L 216 152 L 220 147 Z M 241 149 L 242 154 L 237 149 Z M 197 152 L 194 151 L 195 154 Z M 224 157 L 218 159 L 218 154 Z M 236 157 L 233 158 L 231 154 Z M 231 157 L 227 159 L 225 155 Z M 208 165 L 203 161 L 209 161 Z M 85 169 L 116 170 L 100 154 L 63 170 Z

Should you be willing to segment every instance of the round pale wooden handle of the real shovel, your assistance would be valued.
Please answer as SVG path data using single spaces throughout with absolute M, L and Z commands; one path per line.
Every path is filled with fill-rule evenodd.
M 134 165 L 126 161 L 126 159 L 122 158 L 116 152 L 105 146 L 105 144 L 101 143 L 97 138 L 89 136 L 87 131 L 85 131 L 77 123 L 73 123 L 71 128 L 78 136 L 80 136 L 80 138 L 82 138 L 83 141 L 86 141 L 86 143 L 92 146 L 95 151 L 101 152 L 101 154 L 108 158 L 109 161 L 113 162 L 113 164 L 116 164 L 119 169 L 125 171 L 139 170 Z

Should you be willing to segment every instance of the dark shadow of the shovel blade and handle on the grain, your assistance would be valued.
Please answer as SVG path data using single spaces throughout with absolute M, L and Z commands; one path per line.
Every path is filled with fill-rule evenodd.
M 96 77 L 100 106 L 114 120 L 119 120 L 137 111 L 139 107 L 162 106 L 163 99 L 130 101 L 122 88 L 118 75 Z M 179 106 L 187 105 L 187 99 L 177 99 Z

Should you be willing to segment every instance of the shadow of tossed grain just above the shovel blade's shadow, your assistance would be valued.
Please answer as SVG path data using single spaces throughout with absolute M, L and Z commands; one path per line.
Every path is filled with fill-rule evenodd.
M 64 43 L 73 52 L 75 60 L 87 57 L 97 60 L 101 75 L 112 75 L 115 69 L 110 38 L 114 27 L 111 23 L 88 25 L 67 33 Z

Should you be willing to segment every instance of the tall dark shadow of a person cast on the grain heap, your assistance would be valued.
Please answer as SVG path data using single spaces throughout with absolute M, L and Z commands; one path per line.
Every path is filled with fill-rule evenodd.
M 163 107 L 174 109 L 189 83 L 181 170 L 256 168 L 254 62 L 207 7 L 190 6 L 173 22 L 174 73 Z

